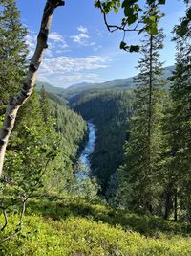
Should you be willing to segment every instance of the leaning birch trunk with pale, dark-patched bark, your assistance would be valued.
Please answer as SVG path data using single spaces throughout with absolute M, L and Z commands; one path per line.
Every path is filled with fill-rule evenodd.
M 35 85 L 37 71 L 43 57 L 43 52 L 48 47 L 47 41 L 52 23 L 53 12 L 58 6 L 63 5 L 64 1 L 61 0 L 47 0 L 42 16 L 40 31 L 37 37 L 36 49 L 31 59 L 26 80 L 22 89 L 16 96 L 11 98 L 9 105 L 7 106 L 3 127 L 0 129 L 0 176 L 3 172 L 6 148 L 9 142 L 12 128 L 15 124 L 18 109 L 32 95 L 32 90 Z

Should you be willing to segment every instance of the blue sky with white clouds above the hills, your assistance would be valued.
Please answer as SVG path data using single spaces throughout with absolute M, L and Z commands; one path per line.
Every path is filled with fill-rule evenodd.
M 35 48 L 45 0 L 16 0 L 21 13 L 21 22 L 29 34 L 29 58 Z M 143 0 L 142 0 L 143 2 Z M 171 31 L 179 23 L 185 7 L 182 0 L 166 0 L 161 6 L 165 17 L 159 23 L 166 35 L 160 60 L 164 66 L 175 62 L 175 44 Z M 110 20 L 117 24 L 119 15 L 111 14 Z M 53 13 L 53 24 L 46 50 L 38 73 L 39 81 L 66 88 L 80 82 L 103 82 L 124 79 L 138 74 L 138 53 L 127 53 L 119 49 L 122 33 L 109 33 L 103 17 L 94 7 L 94 0 L 66 0 L 64 7 Z M 126 40 L 138 44 L 140 36 L 129 33 Z

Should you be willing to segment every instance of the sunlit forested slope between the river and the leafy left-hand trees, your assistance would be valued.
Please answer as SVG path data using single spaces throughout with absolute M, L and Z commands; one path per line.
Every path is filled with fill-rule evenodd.
M 74 179 L 74 164 L 77 153 L 86 140 L 87 125 L 81 116 L 78 116 L 66 105 L 60 105 L 59 100 L 49 100 L 50 116 L 53 117 L 53 129 L 58 134 L 58 156 L 48 177 L 47 191 L 69 191 Z

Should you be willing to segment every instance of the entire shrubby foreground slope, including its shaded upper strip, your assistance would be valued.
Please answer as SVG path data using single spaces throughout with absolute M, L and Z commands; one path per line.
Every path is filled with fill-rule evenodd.
M 1 238 L 17 219 L 11 215 Z M 190 226 L 183 223 L 138 216 L 80 199 L 32 200 L 22 232 L 0 245 L 0 255 L 190 256 L 189 233 Z

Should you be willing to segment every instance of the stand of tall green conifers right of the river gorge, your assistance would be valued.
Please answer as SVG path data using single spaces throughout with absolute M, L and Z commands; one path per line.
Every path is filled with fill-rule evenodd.
M 165 219 L 191 221 L 191 45 L 190 8 L 175 27 L 175 71 L 170 89 L 161 80 L 162 31 L 145 35 L 134 113 L 124 164 L 118 169 L 114 202 Z

